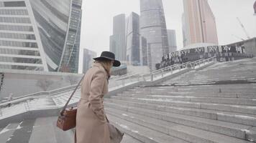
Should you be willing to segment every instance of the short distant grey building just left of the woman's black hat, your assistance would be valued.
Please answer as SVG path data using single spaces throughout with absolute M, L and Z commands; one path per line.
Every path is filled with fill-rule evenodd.
M 94 61 L 93 58 L 96 56 L 97 53 L 95 51 L 83 49 L 83 73 L 86 73 L 86 71 L 91 67 Z

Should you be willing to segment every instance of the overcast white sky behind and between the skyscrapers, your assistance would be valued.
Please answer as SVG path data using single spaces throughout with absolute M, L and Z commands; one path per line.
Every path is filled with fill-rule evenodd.
M 216 19 L 219 44 L 239 41 L 232 34 L 246 39 L 236 17 L 242 21 L 251 37 L 256 36 L 255 0 L 209 0 Z M 178 49 L 183 47 L 181 14 L 183 0 L 163 0 L 167 29 L 175 29 Z M 82 69 L 83 49 L 109 51 L 109 36 L 113 29 L 113 16 L 132 12 L 140 14 L 140 0 L 83 0 L 79 72 Z

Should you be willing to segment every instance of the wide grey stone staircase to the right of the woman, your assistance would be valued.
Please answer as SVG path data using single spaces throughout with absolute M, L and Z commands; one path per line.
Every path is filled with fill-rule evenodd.
M 140 142 L 256 142 L 255 71 L 256 59 L 218 63 L 129 89 L 104 106 Z

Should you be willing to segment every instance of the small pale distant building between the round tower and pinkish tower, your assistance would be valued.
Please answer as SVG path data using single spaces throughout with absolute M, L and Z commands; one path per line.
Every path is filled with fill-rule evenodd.
M 177 51 L 177 42 L 176 42 L 176 32 L 175 30 L 167 30 L 167 36 L 168 36 L 168 46 L 169 51 L 174 52 Z

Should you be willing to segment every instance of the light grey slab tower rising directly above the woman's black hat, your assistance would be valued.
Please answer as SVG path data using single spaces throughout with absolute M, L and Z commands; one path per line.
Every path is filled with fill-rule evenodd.
M 109 51 L 116 55 L 116 59 L 126 61 L 125 14 L 113 18 L 113 35 L 109 38 Z

